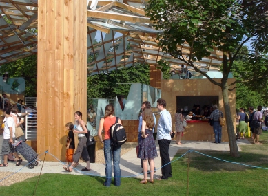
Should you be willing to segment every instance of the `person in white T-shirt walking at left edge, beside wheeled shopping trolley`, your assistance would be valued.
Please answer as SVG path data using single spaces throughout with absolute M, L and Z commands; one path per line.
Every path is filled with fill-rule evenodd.
M 13 155 L 16 157 L 17 164 L 16 166 L 19 166 L 22 162 L 22 159 L 19 157 L 19 155 L 15 152 L 15 149 L 12 147 L 12 144 L 14 142 L 15 138 L 15 123 L 12 116 L 10 116 L 11 109 L 5 108 L 3 109 L 5 114 L 5 119 L 3 123 L 5 124 L 5 127 L 3 129 L 3 144 L 2 144 L 2 153 L 3 153 L 3 164 L 0 164 L 0 167 L 8 166 L 8 154 L 10 151 L 13 153 Z

